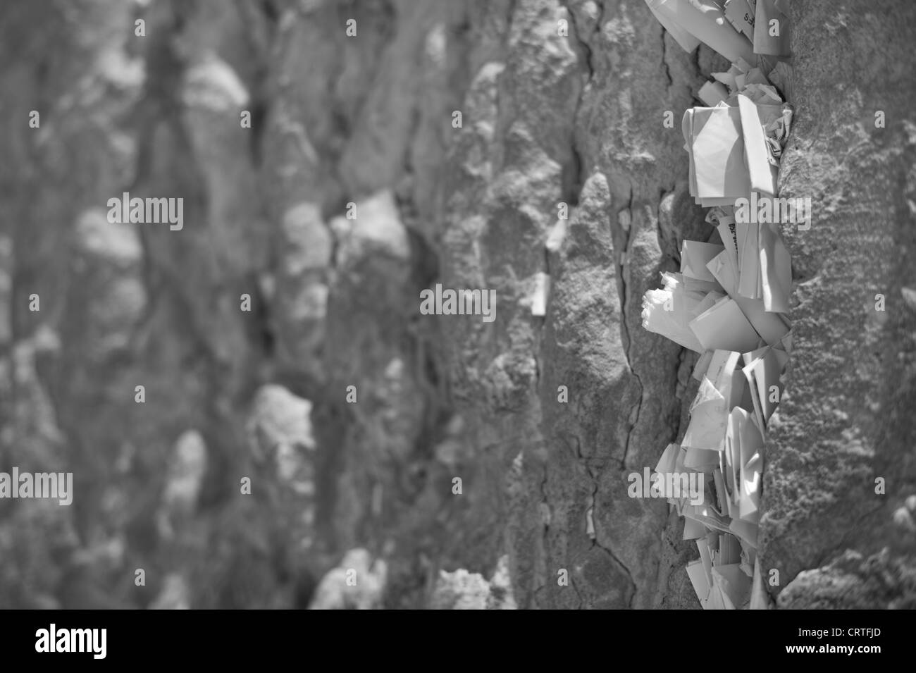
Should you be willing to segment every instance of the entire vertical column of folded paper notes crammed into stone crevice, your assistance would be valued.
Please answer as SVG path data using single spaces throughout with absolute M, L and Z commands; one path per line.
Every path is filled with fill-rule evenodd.
M 770 58 L 789 55 L 788 6 L 782 0 L 646 3 L 683 49 L 703 42 L 732 62 L 700 89 L 706 107 L 682 119 L 690 194 L 711 209 L 706 222 L 713 231 L 708 242 L 684 241 L 680 272 L 663 273 L 663 287 L 643 299 L 644 328 L 700 353 L 690 424 L 655 472 L 672 481 L 702 474 L 700 504 L 688 497 L 669 502 L 685 518 L 684 539 L 695 540 L 700 554 L 687 573 L 703 608 L 760 607 L 763 449 L 791 350 L 791 264 L 779 223 L 747 215 L 758 200 L 776 196 L 791 131 L 791 106 L 774 86 L 784 90 L 791 69 L 785 62 L 773 67 Z

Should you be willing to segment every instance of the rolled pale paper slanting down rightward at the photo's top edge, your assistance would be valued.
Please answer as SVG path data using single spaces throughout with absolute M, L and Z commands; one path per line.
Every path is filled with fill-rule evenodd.
M 698 38 L 704 45 L 736 61 L 753 62 L 754 48 L 744 35 L 728 23 L 713 0 L 646 0 L 656 16 L 663 16 Z M 759 10 L 758 10 L 759 11 Z M 662 24 L 664 25 L 664 24 Z M 673 34 L 672 34 L 673 35 Z

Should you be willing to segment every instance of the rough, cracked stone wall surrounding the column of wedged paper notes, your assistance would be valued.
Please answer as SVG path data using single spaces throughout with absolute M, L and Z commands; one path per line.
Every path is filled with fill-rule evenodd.
M 916 5 L 795 5 L 763 568 L 913 607 Z M 0 607 L 699 607 L 626 475 L 696 391 L 640 299 L 709 233 L 680 118 L 720 57 L 643 0 L 9 0 L 0 57 L 0 471 L 75 489 L 0 501 Z M 496 321 L 420 315 L 437 282 Z

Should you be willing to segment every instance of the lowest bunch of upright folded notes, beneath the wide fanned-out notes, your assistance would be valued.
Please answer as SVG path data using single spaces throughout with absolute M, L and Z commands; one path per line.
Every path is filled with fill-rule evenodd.
M 693 377 L 701 382 L 681 444 L 669 444 L 658 474 L 703 474 L 702 504 L 669 502 L 685 517 L 684 539 L 700 560 L 687 566 L 704 608 L 748 605 L 757 562 L 760 480 L 767 423 L 779 404 L 788 336 L 748 353 L 703 353 Z M 667 478 L 667 477 L 666 477 Z

